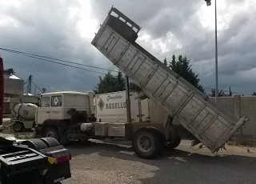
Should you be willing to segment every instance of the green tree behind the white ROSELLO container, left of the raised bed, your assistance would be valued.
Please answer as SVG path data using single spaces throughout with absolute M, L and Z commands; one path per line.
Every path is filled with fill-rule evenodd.
M 95 87 L 95 94 L 104 94 L 126 89 L 126 82 L 122 77 L 121 71 L 118 71 L 117 76 L 113 76 L 109 71 L 104 78 L 102 78 L 102 76 L 99 76 L 98 78 L 99 82 L 97 87 Z

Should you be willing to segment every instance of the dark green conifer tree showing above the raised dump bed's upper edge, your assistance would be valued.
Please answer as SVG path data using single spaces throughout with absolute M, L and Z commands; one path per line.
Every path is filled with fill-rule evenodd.
M 173 55 L 169 67 L 182 76 L 187 82 L 190 82 L 190 84 L 198 88 L 198 90 L 204 92 L 202 86 L 199 84 L 200 79 L 198 78 L 198 74 L 194 73 L 190 65 L 190 60 L 188 60 L 186 56 L 182 57 L 182 55 L 179 55 L 177 61 L 175 55 Z

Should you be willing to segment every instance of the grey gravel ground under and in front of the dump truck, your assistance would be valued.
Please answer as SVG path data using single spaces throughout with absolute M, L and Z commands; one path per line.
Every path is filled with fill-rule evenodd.
M 255 147 L 227 145 L 227 150 L 212 154 L 207 148 L 192 150 L 190 141 L 182 141 L 177 150 L 164 152 L 153 160 L 138 158 L 130 142 L 115 139 L 91 140 L 86 144 L 74 142 L 66 147 L 73 155 L 72 178 L 63 183 L 187 184 L 223 183 L 226 179 L 225 183 L 239 183 L 233 175 L 241 178 L 245 174 L 248 176 L 242 178 L 242 183 L 256 183 L 256 172 L 251 170 L 256 168 Z M 239 166 L 234 169 L 237 165 L 242 171 Z M 218 178 L 211 179 L 213 175 Z

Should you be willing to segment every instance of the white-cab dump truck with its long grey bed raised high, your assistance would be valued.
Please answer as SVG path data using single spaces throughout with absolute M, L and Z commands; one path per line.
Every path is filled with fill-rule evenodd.
M 164 121 L 130 122 L 129 91 L 126 92 L 127 122 L 101 122 L 94 117 L 92 93 L 74 91 L 41 94 L 35 110 L 35 130 L 39 137 L 56 138 L 60 143 L 89 138 L 128 138 L 140 158 L 155 158 L 162 150 L 177 147 L 182 138 L 192 146 L 204 144 L 213 153 L 248 118 L 235 118 L 222 106 L 166 67 L 136 43 L 141 28 L 112 7 L 91 42 L 142 90 L 136 98 L 150 98 L 168 114 Z M 126 86 L 127 83 L 126 82 Z M 126 87 L 128 89 L 128 87 Z M 99 102 L 100 106 L 108 106 Z M 118 104 L 111 103 L 114 108 Z

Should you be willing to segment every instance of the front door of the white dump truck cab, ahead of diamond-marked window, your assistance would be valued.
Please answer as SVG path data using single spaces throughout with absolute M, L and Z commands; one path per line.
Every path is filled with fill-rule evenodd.
M 40 107 L 38 108 L 38 125 L 42 125 L 47 119 L 50 119 L 50 97 L 42 96 Z

